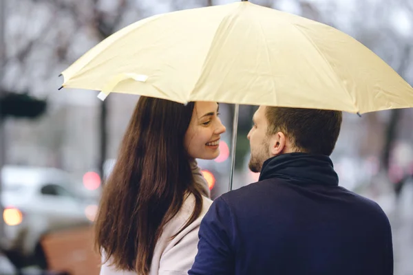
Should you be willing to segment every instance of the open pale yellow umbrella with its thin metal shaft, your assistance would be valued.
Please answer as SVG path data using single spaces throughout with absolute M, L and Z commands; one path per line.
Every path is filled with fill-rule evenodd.
M 367 113 L 413 107 L 413 89 L 351 36 L 240 1 L 158 14 L 109 36 L 62 72 L 62 87 L 176 102 Z

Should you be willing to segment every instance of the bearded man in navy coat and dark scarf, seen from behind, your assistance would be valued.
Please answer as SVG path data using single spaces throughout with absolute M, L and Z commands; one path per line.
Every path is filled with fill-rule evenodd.
M 341 120 L 339 111 L 255 112 L 249 168 L 260 181 L 213 202 L 190 275 L 393 274 L 388 218 L 338 185 L 329 156 Z

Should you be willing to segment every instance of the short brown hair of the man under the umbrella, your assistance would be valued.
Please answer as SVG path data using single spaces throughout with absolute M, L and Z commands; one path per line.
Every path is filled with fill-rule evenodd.
M 266 107 L 268 135 L 282 132 L 297 151 L 331 155 L 339 137 L 341 111 Z

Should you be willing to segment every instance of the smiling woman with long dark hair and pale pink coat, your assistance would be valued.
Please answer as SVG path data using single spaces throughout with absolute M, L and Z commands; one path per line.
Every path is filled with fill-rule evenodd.
M 139 98 L 96 217 L 101 275 L 187 274 L 211 206 L 195 158 L 218 157 L 224 132 L 216 102 Z

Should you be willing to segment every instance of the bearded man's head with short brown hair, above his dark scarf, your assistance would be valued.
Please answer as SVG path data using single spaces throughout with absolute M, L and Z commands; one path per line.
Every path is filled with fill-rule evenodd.
M 341 111 L 260 106 L 248 133 L 253 172 L 276 155 L 293 152 L 331 155 L 339 137 Z

